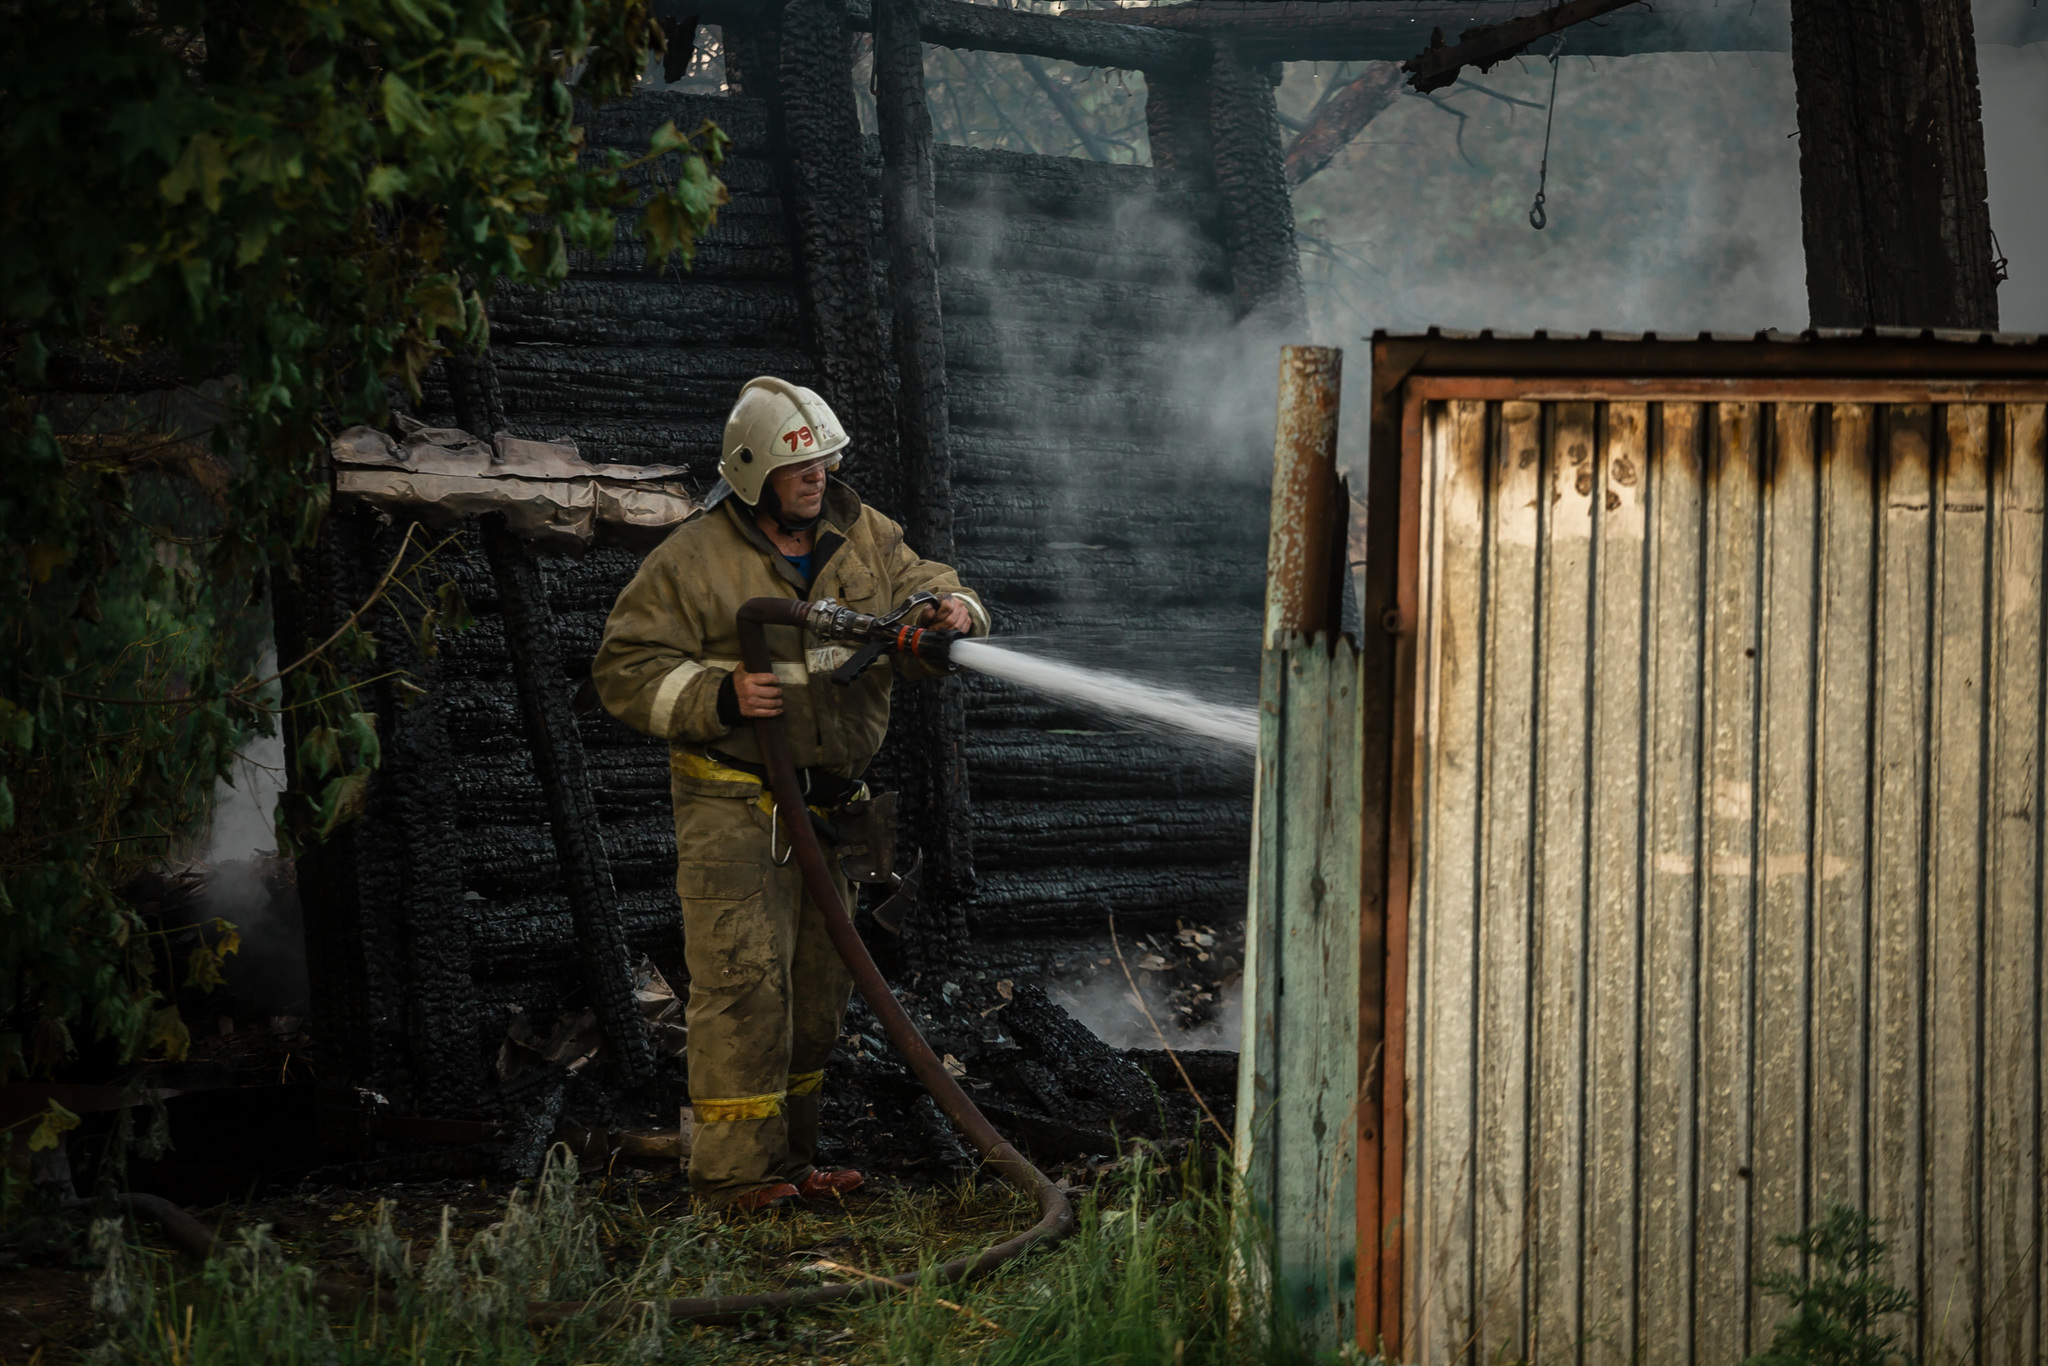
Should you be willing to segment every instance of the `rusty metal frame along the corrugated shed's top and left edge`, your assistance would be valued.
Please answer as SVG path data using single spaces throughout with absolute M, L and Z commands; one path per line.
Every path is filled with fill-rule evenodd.
M 1407 952 L 1415 780 L 1421 416 L 1436 399 L 2048 401 L 2048 342 L 1991 336 L 1755 340 L 1372 338 L 1366 580 L 1360 594 L 1358 1339 L 1403 1354 L 1407 1311 Z M 1368 1171 L 1380 1171 L 1378 1182 Z

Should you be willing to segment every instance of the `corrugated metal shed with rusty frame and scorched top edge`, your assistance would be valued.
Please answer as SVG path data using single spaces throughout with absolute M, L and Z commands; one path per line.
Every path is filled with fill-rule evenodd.
M 1374 340 L 1364 1341 L 1739 1362 L 1845 1202 L 1921 1360 L 2040 1358 L 2044 412 L 2032 338 Z

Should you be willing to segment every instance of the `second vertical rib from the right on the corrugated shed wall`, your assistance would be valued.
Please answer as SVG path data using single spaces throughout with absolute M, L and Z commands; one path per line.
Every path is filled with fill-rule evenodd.
M 1927 1204 L 1923 1321 L 1931 1360 L 1966 1360 L 1976 1268 L 1985 905 L 1985 612 L 1991 410 L 1944 410 L 1937 461 L 1931 809 L 1927 813 Z

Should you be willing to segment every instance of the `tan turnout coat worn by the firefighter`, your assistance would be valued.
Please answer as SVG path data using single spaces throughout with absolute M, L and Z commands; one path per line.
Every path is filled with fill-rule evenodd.
M 920 559 L 903 545 L 901 526 L 836 479 L 825 487 L 813 543 L 815 582 L 807 590 L 737 498 L 670 532 L 604 623 L 604 643 L 590 666 L 604 707 L 678 750 L 709 745 L 758 764 L 754 727 L 727 729 L 719 721 L 719 684 L 739 668 L 733 612 L 748 598 L 838 598 L 862 612 L 887 612 L 920 590 L 956 594 L 975 618 L 973 633 L 989 633 L 987 608 L 961 588 L 958 575 Z M 795 627 L 768 627 L 768 645 L 797 766 L 844 778 L 858 778 L 883 743 L 893 674 L 934 674 L 918 659 L 893 657 L 893 670 L 877 664 L 842 688 L 829 676 L 856 645 L 823 643 Z M 678 778 L 678 786 L 702 797 L 748 795 L 731 782 Z

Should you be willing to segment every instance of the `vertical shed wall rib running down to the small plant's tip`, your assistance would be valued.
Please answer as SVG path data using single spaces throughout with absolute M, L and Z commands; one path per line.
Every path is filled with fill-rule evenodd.
M 1870 670 L 1876 575 L 1876 430 L 1868 403 L 1827 414 L 1821 459 L 1819 711 L 1812 899 L 1812 1212 L 1864 1208 L 1870 1065 Z

